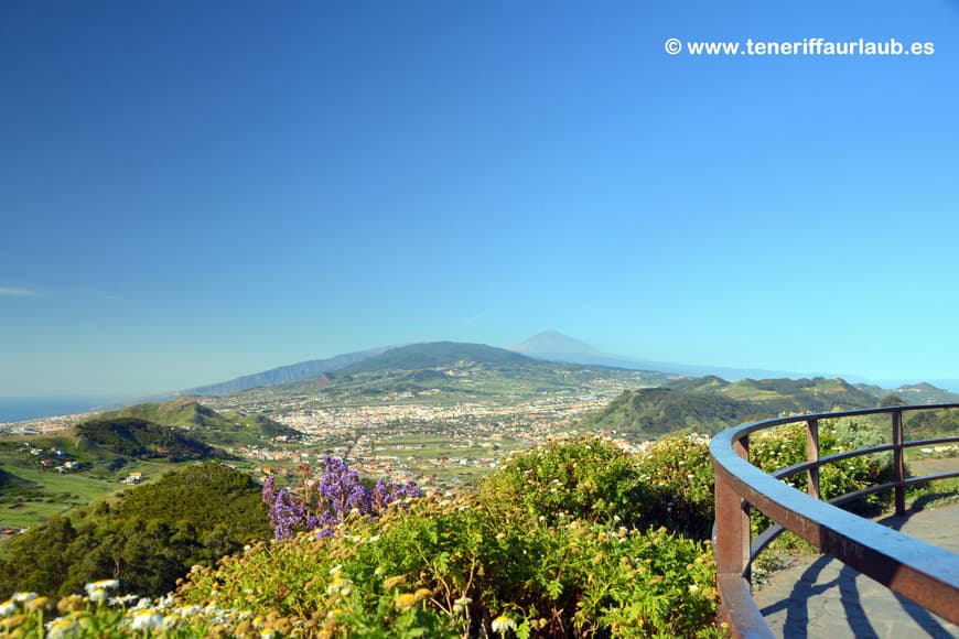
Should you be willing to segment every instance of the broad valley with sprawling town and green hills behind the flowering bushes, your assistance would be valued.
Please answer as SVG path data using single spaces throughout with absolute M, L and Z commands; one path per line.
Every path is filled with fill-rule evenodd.
M 511 453 L 557 437 L 602 433 L 637 451 L 672 432 L 713 433 L 780 412 L 871 408 L 890 392 L 841 379 L 731 382 L 547 361 L 484 345 L 412 345 L 293 382 L 7 425 L 0 530 L 110 495 L 131 477 L 149 483 L 190 458 L 218 458 L 283 484 L 301 464 L 315 467 L 332 454 L 363 476 L 416 479 L 451 492 Z M 913 403 L 959 399 L 929 385 L 892 392 Z M 187 442 L 184 458 L 169 442 L 133 445 L 129 433 L 98 445 L 84 425 L 91 422 L 142 422 L 195 443 Z M 919 426 L 955 429 L 951 422 Z M 884 432 L 882 424 L 874 427 Z

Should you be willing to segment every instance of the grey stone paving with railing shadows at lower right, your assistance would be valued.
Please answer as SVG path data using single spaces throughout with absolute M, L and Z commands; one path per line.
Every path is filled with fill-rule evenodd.
M 959 552 L 959 505 L 877 520 Z M 927 613 L 829 555 L 804 556 L 753 595 L 777 637 L 788 639 L 959 638 L 959 626 Z

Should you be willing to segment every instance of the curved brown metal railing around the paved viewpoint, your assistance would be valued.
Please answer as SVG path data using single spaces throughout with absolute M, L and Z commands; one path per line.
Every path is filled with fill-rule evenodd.
M 959 470 L 925 477 L 906 477 L 904 450 L 959 442 L 959 436 L 905 442 L 903 413 L 959 409 L 959 404 L 888 407 L 834 413 L 790 415 L 751 422 L 723 431 L 710 443 L 715 473 L 716 586 L 720 605 L 716 622 L 729 624 L 734 637 L 772 637 L 750 584 L 750 566 L 762 550 L 784 530 L 805 539 L 821 552 L 872 577 L 927 610 L 959 624 L 959 555 L 907 537 L 896 530 L 840 510 L 837 505 L 884 490 L 893 490 L 897 515 L 905 512 L 908 486 L 959 477 Z M 820 457 L 819 422 L 839 418 L 888 413 L 892 444 Z M 806 423 L 807 461 L 773 474 L 750 464 L 750 434 L 785 424 Z M 820 500 L 819 468 L 832 462 L 892 451 L 893 481 L 850 492 L 828 502 Z M 782 479 L 806 472 L 809 494 Z M 756 508 L 777 522 L 755 540 L 750 533 L 750 509 Z

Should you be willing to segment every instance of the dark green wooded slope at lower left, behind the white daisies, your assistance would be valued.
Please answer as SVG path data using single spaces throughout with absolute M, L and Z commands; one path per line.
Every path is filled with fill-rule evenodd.
M 215 463 L 186 467 L 4 544 L 0 598 L 67 595 L 110 576 L 125 592 L 162 595 L 194 564 L 211 564 L 269 534 L 260 488 Z

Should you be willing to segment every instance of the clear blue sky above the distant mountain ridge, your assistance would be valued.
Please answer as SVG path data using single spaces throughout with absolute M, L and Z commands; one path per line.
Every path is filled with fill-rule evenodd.
M 688 51 L 815 37 L 933 53 Z M 957 380 L 957 219 L 955 0 L 0 2 L 0 396 L 550 327 Z

